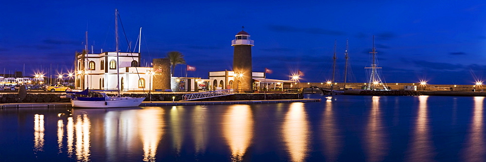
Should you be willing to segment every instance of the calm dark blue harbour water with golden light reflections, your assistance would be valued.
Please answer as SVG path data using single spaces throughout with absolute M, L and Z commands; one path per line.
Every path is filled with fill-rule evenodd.
M 0 162 L 485 161 L 485 97 L 0 110 Z

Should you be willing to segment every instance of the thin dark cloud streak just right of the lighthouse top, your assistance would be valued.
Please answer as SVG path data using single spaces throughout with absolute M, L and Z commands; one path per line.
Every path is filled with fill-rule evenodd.
M 308 34 L 324 34 L 324 35 L 344 35 L 344 32 L 333 31 L 322 28 L 296 28 L 285 25 L 270 25 L 270 30 L 275 32 L 303 32 Z

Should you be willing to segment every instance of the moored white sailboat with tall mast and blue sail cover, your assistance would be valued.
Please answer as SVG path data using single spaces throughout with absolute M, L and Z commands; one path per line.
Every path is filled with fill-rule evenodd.
M 115 9 L 115 39 L 117 50 L 117 64 L 119 63 L 118 50 L 118 10 Z M 118 65 L 116 67 L 119 67 Z M 117 96 L 110 97 L 105 93 L 90 92 L 89 88 L 81 92 L 67 92 L 72 94 L 71 106 L 78 108 L 120 108 L 138 107 L 145 97 L 121 97 L 120 94 L 120 68 L 117 68 Z M 99 91 L 99 90 L 98 90 Z M 87 96 L 87 97 L 80 97 Z

